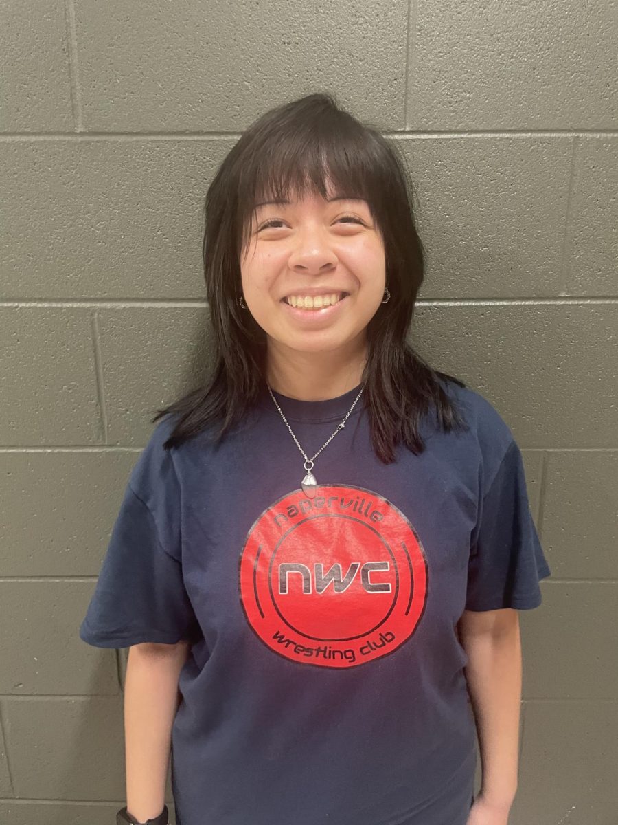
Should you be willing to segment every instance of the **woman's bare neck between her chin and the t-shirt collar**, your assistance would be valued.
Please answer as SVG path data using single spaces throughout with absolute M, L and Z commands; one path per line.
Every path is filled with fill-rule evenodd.
M 347 352 L 301 352 L 269 342 L 267 380 L 274 392 L 298 401 L 325 401 L 348 393 L 363 380 L 366 348 Z

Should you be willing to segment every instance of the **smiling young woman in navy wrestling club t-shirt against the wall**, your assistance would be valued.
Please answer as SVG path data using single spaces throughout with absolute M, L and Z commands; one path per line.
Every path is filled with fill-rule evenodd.
M 507 825 L 550 568 L 509 427 L 408 341 L 411 195 L 325 94 L 208 190 L 214 369 L 153 419 L 80 628 L 130 648 L 118 823 L 166 823 L 171 747 L 179 825 Z

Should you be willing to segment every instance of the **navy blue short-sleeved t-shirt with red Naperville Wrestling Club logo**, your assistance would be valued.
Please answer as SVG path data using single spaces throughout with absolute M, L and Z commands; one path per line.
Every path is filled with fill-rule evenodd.
M 521 452 L 480 394 L 452 382 L 467 431 L 421 424 L 425 450 L 373 453 L 364 394 L 304 459 L 265 390 L 215 446 L 130 474 L 79 630 L 102 648 L 188 639 L 172 728 L 179 825 L 465 825 L 475 722 L 464 610 L 527 610 L 550 576 Z M 360 385 L 275 393 L 310 457 Z

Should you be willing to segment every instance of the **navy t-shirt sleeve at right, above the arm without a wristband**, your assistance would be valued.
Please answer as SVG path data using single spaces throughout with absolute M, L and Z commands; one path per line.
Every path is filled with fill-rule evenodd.
M 551 575 L 528 502 L 522 453 L 515 441 L 480 503 L 472 531 L 466 610 L 529 610 L 541 605 Z

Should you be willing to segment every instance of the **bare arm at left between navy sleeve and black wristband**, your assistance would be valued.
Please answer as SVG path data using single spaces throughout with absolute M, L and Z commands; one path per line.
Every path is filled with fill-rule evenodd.
M 171 726 L 178 708 L 178 677 L 189 643 L 135 644 L 124 683 L 127 809 L 140 822 L 165 805 Z

